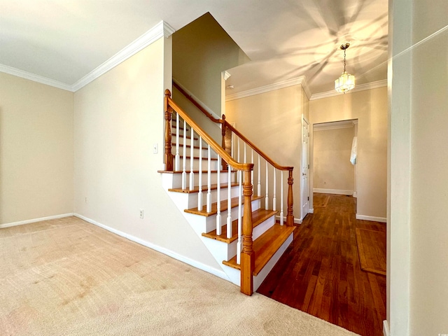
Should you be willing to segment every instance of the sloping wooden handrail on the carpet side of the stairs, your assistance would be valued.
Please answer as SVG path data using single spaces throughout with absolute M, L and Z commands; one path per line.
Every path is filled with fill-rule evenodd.
M 188 116 L 187 113 L 185 113 L 179 105 L 177 105 L 173 99 L 171 98 L 171 92 L 167 89 L 165 90 L 165 120 L 167 120 L 167 113 L 171 113 L 169 109 L 172 109 L 173 111 L 176 111 L 179 113 L 179 115 L 185 120 L 188 125 L 193 127 L 195 132 L 199 134 L 202 139 L 204 139 L 207 144 L 211 146 L 211 148 L 214 149 L 214 151 L 221 156 L 227 162 L 232 168 L 235 168 L 237 170 L 243 170 L 244 172 L 248 171 L 250 172 L 253 169 L 253 163 L 240 163 L 234 160 L 232 156 L 230 156 L 214 139 L 212 139 L 209 134 L 207 134 L 202 128 L 195 123 L 195 121 Z M 169 119 L 171 121 L 171 119 Z M 167 133 L 166 131 L 165 133 Z M 169 131 L 169 135 L 171 136 L 171 131 Z M 165 144 L 165 147 L 168 148 L 169 146 L 169 153 L 171 153 L 171 142 L 169 144 Z M 168 170 L 168 169 L 167 169 Z

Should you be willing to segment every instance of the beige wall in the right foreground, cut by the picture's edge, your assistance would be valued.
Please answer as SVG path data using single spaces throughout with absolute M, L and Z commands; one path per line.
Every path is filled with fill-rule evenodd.
M 410 335 L 448 333 L 448 1 L 412 1 Z M 422 66 L 424 64 L 424 66 Z

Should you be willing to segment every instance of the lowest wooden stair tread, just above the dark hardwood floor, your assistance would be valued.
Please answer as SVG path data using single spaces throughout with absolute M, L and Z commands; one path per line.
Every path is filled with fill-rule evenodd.
M 294 232 L 295 226 L 286 226 L 275 224 L 269 228 L 258 239 L 253 241 L 253 252 L 255 254 L 255 269 L 253 275 L 256 276 L 263 267 L 271 260 L 272 255 L 280 248 L 280 246 L 288 239 L 289 235 Z M 229 261 L 223 261 L 224 265 L 235 269 L 241 269 L 237 264 L 237 256 Z

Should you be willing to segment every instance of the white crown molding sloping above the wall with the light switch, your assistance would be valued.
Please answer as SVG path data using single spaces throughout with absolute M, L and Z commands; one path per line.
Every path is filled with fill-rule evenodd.
M 146 31 L 145 34 L 141 35 L 139 38 L 130 43 L 130 45 L 127 45 L 125 48 L 117 52 L 116 55 L 113 55 L 106 62 L 98 66 L 90 73 L 87 73 L 87 75 L 74 83 L 72 86 L 73 91 L 78 91 L 81 87 L 84 87 L 88 83 L 97 79 L 99 76 L 102 76 L 104 73 L 113 69 L 118 64 L 124 62 L 131 56 L 137 54 L 137 52 L 146 48 L 151 43 L 154 43 L 159 38 L 169 37 L 174 33 L 174 31 L 175 29 L 168 25 L 167 22 L 160 21 L 153 28 Z

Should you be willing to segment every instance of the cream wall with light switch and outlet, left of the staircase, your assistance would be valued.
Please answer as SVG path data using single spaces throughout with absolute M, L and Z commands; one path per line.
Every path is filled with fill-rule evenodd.
M 163 190 L 158 173 L 170 43 L 161 38 L 76 92 L 75 212 L 221 269 Z

